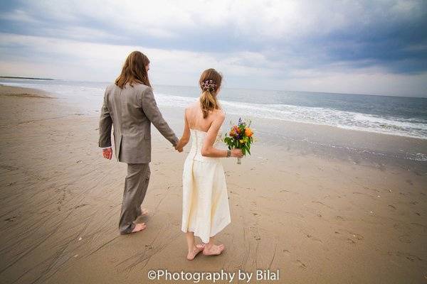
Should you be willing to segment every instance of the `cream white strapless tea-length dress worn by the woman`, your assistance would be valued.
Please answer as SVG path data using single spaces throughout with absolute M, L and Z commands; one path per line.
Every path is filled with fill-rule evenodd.
M 207 133 L 196 129 L 190 132 L 191 150 L 182 173 L 181 231 L 193 231 L 208 243 L 209 237 L 231 222 L 226 176 L 221 158 L 201 155 Z

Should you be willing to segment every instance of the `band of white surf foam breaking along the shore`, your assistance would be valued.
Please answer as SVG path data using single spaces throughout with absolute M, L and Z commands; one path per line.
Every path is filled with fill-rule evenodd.
M 60 82 L 55 84 L 51 84 L 51 82 L 33 84 L 32 82 L 3 82 L 3 84 L 43 89 L 47 92 L 56 93 L 60 97 L 73 99 L 89 110 L 100 107 L 105 90 L 101 87 L 87 87 L 79 84 L 70 85 L 66 82 L 64 84 Z M 155 93 L 155 97 L 159 107 L 186 107 L 191 102 L 196 101 L 195 97 L 181 97 L 159 92 Z M 427 139 L 427 123 L 422 119 L 380 117 L 352 111 L 339 111 L 322 107 L 301 107 L 290 104 L 254 104 L 225 100 L 220 100 L 220 102 L 228 114 L 321 124 L 342 129 Z M 423 160 L 425 157 L 416 158 Z

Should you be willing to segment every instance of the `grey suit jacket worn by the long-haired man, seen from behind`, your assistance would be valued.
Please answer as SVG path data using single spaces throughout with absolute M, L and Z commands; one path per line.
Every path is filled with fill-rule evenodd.
M 105 89 L 100 115 L 99 146 L 111 146 L 114 126 L 115 155 L 123 163 L 151 161 L 151 124 L 176 146 L 178 138 L 157 107 L 152 88 L 144 84 L 126 84 L 123 89 L 111 84 Z

